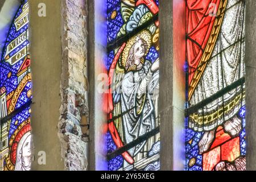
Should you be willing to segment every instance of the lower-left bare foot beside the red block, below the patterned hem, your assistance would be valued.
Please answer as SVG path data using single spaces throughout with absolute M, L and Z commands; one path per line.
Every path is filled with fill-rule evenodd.
M 215 131 L 207 131 L 204 133 L 203 137 L 201 138 L 199 142 L 199 153 L 203 154 L 203 152 L 207 151 L 210 148 L 210 144 L 212 144 L 212 141 L 214 139 L 214 133 Z

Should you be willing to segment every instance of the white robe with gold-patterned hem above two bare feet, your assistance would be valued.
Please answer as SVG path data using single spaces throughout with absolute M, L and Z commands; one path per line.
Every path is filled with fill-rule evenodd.
M 191 106 L 198 104 L 205 98 L 209 98 L 245 76 L 245 42 L 243 40 L 245 38 L 245 11 L 242 2 L 237 2 L 239 1 L 228 0 L 220 35 L 212 53 L 212 59 L 209 60 L 203 76 L 192 94 Z M 220 107 L 225 106 L 230 100 L 234 100 L 238 94 L 241 94 L 242 89 L 241 86 L 238 86 L 236 89 L 226 93 L 223 98 L 220 97 L 210 102 L 203 109 L 199 109 L 197 114 L 209 115 L 213 113 Z M 198 126 L 196 121 L 189 119 L 189 127 L 196 131 L 216 129 L 217 126 L 237 114 L 245 101 L 241 99 L 240 102 L 240 105 L 235 106 L 233 110 L 224 114 L 224 116 L 218 117 L 216 121 L 208 124 L 204 123 L 203 127 Z

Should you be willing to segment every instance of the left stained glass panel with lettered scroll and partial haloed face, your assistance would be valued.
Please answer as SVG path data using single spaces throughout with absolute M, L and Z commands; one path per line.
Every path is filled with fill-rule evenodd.
M 28 42 L 28 3 L 23 0 L 11 24 L 0 70 L 1 171 L 28 171 L 31 164 L 32 99 Z

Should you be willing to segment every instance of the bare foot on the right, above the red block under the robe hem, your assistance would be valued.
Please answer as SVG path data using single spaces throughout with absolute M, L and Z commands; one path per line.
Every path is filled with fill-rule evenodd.
M 224 123 L 224 130 L 226 133 L 232 135 L 232 137 L 236 137 L 240 131 L 242 130 L 242 121 L 237 116 L 229 119 Z

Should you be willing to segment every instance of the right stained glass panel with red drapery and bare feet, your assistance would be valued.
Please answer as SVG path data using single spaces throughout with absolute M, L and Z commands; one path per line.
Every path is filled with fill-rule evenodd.
M 186 2 L 186 169 L 245 170 L 245 1 Z

